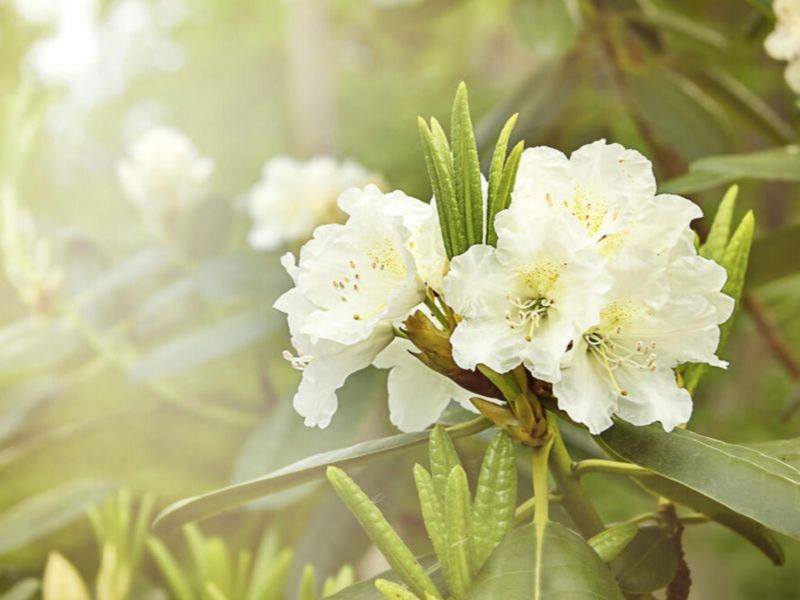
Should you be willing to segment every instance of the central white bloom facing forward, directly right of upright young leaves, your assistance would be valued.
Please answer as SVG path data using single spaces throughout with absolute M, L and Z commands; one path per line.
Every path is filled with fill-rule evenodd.
M 512 202 L 495 230 L 497 249 L 472 246 L 444 281 L 447 303 L 464 317 L 453 358 L 500 373 L 524 364 L 557 381 L 570 342 L 599 319 L 608 287 L 602 257 L 577 220 L 535 202 Z

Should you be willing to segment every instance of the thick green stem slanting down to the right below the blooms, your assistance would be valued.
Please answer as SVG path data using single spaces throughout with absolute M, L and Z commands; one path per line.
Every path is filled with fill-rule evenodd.
M 553 451 L 550 457 L 553 479 L 556 480 L 558 490 L 563 497 L 564 508 L 572 517 L 581 535 L 589 539 L 605 530 L 605 525 L 573 471 L 572 457 L 564 445 L 564 439 L 555 419 L 550 423 L 550 431 L 553 432 Z

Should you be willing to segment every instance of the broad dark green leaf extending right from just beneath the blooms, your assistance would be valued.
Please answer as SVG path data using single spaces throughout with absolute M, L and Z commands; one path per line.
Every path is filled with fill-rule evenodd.
M 617 420 L 600 436 L 616 456 L 800 539 L 800 471 L 766 454 L 658 425 Z

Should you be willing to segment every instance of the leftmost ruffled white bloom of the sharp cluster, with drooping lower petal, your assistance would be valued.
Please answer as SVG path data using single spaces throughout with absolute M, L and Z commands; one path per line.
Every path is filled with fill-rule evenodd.
M 318 227 L 294 266 L 283 264 L 295 287 L 275 307 L 289 317 L 291 357 L 303 370 L 295 409 L 309 426 L 325 427 L 336 411 L 336 390 L 375 359 L 393 337 L 393 323 L 424 299 L 408 244 L 430 218 L 430 205 L 375 186 L 339 199 L 343 224 Z

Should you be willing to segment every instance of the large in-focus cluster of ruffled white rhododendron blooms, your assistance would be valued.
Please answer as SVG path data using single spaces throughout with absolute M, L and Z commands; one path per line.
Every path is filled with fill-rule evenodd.
M 523 155 L 511 205 L 495 220 L 496 247 L 446 260 L 434 207 L 368 186 L 344 193 L 343 225 L 324 225 L 284 265 L 295 287 L 289 355 L 303 370 L 295 408 L 310 426 L 336 411 L 336 391 L 369 364 L 391 368 L 392 421 L 434 422 L 469 392 L 428 370 L 395 337 L 431 287 L 456 315 L 453 359 L 465 370 L 523 365 L 552 384 L 561 409 L 598 433 L 611 416 L 665 429 L 686 422 L 688 392 L 674 368 L 725 366 L 719 324 L 733 301 L 725 270 L 698 256 L 690 222 L 700 209 L 656 195 L 650 162 L 595 142 L 571 157 L 552 148 Z M 474 395 L 474 394 L 472 394 Z

